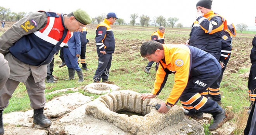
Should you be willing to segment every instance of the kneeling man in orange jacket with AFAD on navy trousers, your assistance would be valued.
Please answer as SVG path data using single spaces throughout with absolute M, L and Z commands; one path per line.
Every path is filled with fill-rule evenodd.
M 171 93 L 166 102 L 161 103 L 158 112 L 167 113 L 180 100 L 189 113 L 204 112 L 213 115 L 210 131 L 220 128 L 229 120 L 225 110 L 216 101 L 200 95 L 221 73 L 220 64 L 211 54 L 193 46 L 168 46 L 156 41 L 144 42 L 140 47 L 140 54 L 149 61 L 159 62 L 154 89 L 152 93 L 142 94 L 142 100 L 159 95 L 168 75 L 175 74 Z

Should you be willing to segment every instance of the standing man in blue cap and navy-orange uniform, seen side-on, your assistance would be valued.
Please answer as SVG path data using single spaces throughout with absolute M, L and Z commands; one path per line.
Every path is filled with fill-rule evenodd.
M 96 47 L 97 54 L 99 56 L 98 68 L 93 77 L 93 82 L 99 82 L 102 78 L 102 82 L 107 82 L 109 78 L 109 69 L 112 62 L 112 53 L 115 51 L 115 38 L 114 33 L 110 27 L 111 24 L 116 22 L 118 17 L 115 13 L 110 12 L 107 14 L 107 18 L 101 22 L 96 28 Z

